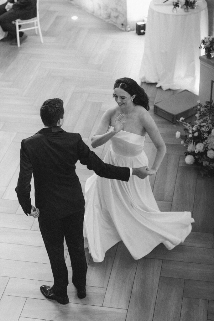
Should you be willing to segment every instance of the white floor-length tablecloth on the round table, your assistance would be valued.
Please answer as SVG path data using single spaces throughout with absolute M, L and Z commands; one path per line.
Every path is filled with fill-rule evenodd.
M 199 49 L 201 39 L 208 36 L 208 11 L 206 1 L 196 9 L 184 12 L 172 4 L 150 3 L 146 24 L 145 47 L 140 69 L 140 79 L 157 82 L 157 87 L 199 91 Z

